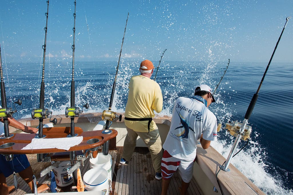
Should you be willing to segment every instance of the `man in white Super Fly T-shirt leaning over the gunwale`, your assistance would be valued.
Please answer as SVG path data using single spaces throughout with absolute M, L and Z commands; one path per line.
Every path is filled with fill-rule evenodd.
M 203 149 L 217 140 L 217 119 L 207 107 L 215 102 L 212 90 L 206 84 L 196 87 L 191 98 L 175 101 L 169 133 L 163 144 L 162 194 L 167 194 L 170 179 L 177 169 L 181 172 L 181 194 L 186 194 L 193 176 L 197 140 Z

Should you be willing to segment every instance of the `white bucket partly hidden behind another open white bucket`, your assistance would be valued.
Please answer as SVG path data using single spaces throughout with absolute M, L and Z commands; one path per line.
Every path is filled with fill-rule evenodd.
M 108 171 L 108 179 L 112 182 L 112 156 L 98 153 L 96 158 L 90 159 L 90 168 L 104 168 Z

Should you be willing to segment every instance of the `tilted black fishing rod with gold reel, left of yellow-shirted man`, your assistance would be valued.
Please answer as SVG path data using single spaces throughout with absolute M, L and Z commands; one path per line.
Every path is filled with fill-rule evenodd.
M 115 93 L 115 87 L 116 87 L 116 80 L 117 80 L 117 75 L 118 75 L 119 63 L 120 63 L 120 58 L 121 58 L 121 53 L 122 53 L 122 46 L 123 46 L 123 42 L 124 42 L 124 37 L 125 37 L 125 32 L 126 32 L 128 17 L 129 17 L 129 12 L 127 14 L 127 19 L 126 19 L 124 34 L 123 34 L 123 38 L 122 38 L 120 55 L 119 55 L 118 64 L 117 64 L 117 68 L 116 68 L 115 79 L 114 79 L 114 83 L 113 83 L 113 87 L 112 87 L 112 93 L 111 93 L 111 98 L 110 98 L 110 103 L 109 103 L 109 109 L 108 109 L 108 111 L 104 110 L 103 113 L 102 113 L 102 119 L 103 120 L 104 119 L 106 120 L 105 129 L 109 129 L 109 127 L 110 127 L 109 126 L 109 122 L 110 121 L 112 122 L 112 120 L 114 120 L 115 118 L 117 118 L 116 112 L 111 111 L 111 109 L 112 109 L 112 103 L 113 103 L 113 99 L 114 99 L 114 93 Z M 119 121 L 121 121 L 121 119 L 122 119 L 122 114 L 120 114 L 120 116 L 119 116 Z M 108 133 L 111 133 L 111 132 L 108 132 Z M 109 150 L 109 140 L 106 141 L 105 144 L 103 144 L 103 154 L 104 155 L 108 155 L 108 150 Z

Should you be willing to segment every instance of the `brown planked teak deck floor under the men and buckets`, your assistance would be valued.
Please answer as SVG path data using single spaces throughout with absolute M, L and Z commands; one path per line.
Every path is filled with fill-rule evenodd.
M 112 155 L 112 195 L 124 194 L 161 194 L 162 180 L 155 179 L 155 171 L 151 163 L 151 155 L 148 148 L 136 147 L 132 160 L 128 164 L 119 164 L 122 156 L 123 147 L 117 147 L 117 150 L 110 150 Z M 28 159 L 33 168 L 33 172 L 37 177 L 39 183 L 50 184 L 50 177 L 48 175 L 40 177 L 40 172 L 51 163 L 38 163 L 36 154 L 28 154 Z M 81 167 L 81 175 L 90 169 L 89 159 L 85 161 L 84 167 Z M 18 190 L 10 193 L 11 195 L 22 195 L 31 193 L 30 188 L 24 180 L 18 176 Z M 6 178 L 8 185 L 13 185 L 13 175 Z M 171 178 L 168 194 L 180 194 L 181 177 L 176 172 Z M 69 187 L 67 187 L 70 189 Z M 42 193 L 49 193 L 44 191 Z M 193 178 L 188 188 L 189 195 L 203 194 L 199 185 Z

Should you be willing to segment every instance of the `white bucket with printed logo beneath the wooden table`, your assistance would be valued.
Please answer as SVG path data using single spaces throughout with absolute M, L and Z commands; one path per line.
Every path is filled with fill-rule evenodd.
M 53 169 L 57 186 L 64 187 L 73 183 L 72 174 L 68 175 L 67 173 L 70 167 L 70 161 L 63 161 Z

